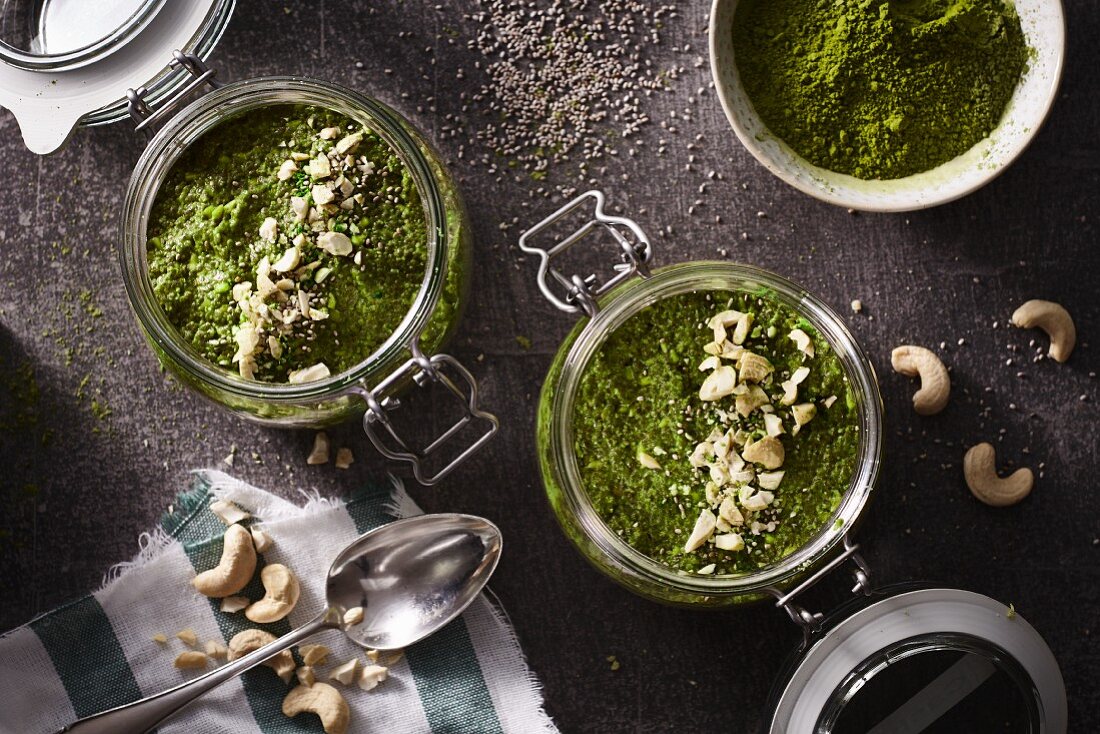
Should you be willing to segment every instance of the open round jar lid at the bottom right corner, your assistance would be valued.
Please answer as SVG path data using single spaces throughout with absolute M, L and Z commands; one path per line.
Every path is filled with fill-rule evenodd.
M 779 689 L 769 731 L 1066 731 L 1050 648 L 1011 606 L 908 588 L 826 623 Z

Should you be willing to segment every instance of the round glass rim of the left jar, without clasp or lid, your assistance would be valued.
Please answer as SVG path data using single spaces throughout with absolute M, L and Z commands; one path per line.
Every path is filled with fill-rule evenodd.
M 168 320 L 153 293 L 146 256 L 148 217 L 167 174 L 187 147 L 226 120 L 261 107 L 314 105 L 334 110 L 366 125 L 389 144 L 407 167 L 420 195 L 428 233 L 425 276 L 416 299 L 393 333 L 352 368 L 300 384 L 245 380 L 198 353 Z M 241 79 L 215 89 L 173 116 L 146 146 L 134 167 L 120 219 L 119 260 L 131 308 L 158 349 L 189 375 L 227 393 L 275 403 L 324 398 L 366 385 L 405 359 L 435 313 L 448 269 L 447 208 L 436 173 L 417 140 L 416 130 L 396 110 L 346 87 L 300 76 Z

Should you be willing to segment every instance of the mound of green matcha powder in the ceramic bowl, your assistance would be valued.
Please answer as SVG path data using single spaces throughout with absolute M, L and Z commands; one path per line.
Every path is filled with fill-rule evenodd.
M 1028 56 L 1003 0 L 741 0 L 734 52 L 773 134 L 868 179 L 928 171 L 989 135 Z

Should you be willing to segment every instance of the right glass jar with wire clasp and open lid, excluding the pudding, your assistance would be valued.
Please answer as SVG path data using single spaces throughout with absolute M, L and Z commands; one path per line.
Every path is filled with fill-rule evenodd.
M 549 248 L 532 244 L 592 200 L 595 215 L 586 223 Z M 710 609 L 771 598 L 787 612 L 802 642 L 772 688 L 761 728 L 769 734 L 1065 732 L 1066 688 L 1057 660 L 1013 606 L 960 589 L 872 583 L 854 528 L 882 464 L 882 402 L 875 370 L 840 318 L 790 281 L 749 265 L 696 262 L 650 273 L 645 233 L 629 219 L 604 213 L 603 205 L 601 193 L 583 194 L 519 241 L 539 258 L 543 295 L 561 310 L 584 314 L 554 357 L 537 417 L 547 495 L 581 554 L 647 599 Z M 601 229 L 619 250 L 614 276 L 601 283 L 554 267 L 558 255 Z M 635 550 L 594 510 L 574 449 L 579 385 L 608 336 L 661 299 L 700 291 L 765 291 L 809 320 L 839 358 L 858 416 L 856 468 L 829 522 L 794 552 L 743 574 L 678 573 Z M 842 568 L 851 571 L 851 599 L 827 613 L 802 605 L 804 592 Z

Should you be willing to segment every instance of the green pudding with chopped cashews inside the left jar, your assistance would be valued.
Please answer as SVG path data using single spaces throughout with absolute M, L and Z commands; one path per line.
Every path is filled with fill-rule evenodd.
M 220 123 L 169 172 L 148 222 L 168 320 L 241 376 L 302 383 L 351 369 L 396 330 L 428 263 L 415 180 L 336 111 L 263 107 Z

